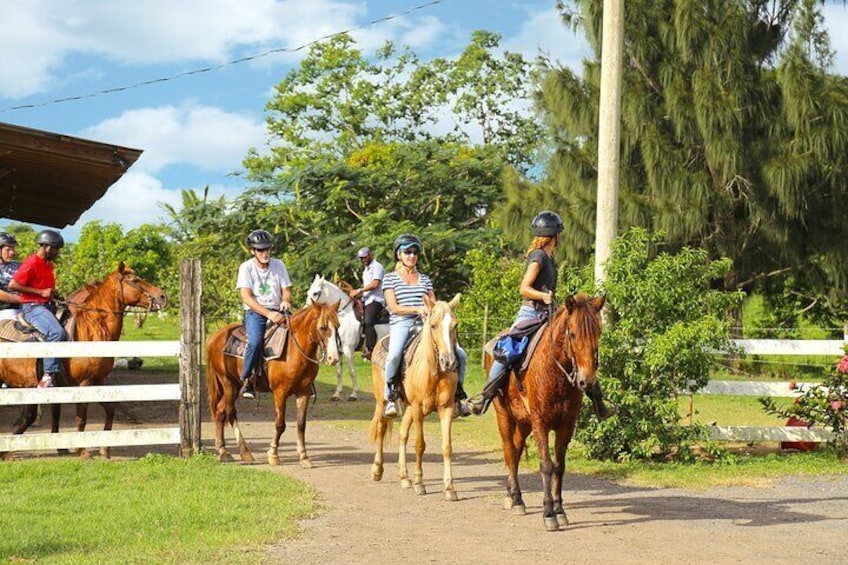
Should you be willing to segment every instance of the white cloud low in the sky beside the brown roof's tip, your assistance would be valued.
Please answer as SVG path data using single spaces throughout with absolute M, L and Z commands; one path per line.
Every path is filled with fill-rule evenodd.
M 265 141 L 265 124 L 243 114 L 186 102 L 128 110 L 85 129 L 82 136 L 143 149 L 133 171 L 156 173 L 172 164 L 230 173 Z

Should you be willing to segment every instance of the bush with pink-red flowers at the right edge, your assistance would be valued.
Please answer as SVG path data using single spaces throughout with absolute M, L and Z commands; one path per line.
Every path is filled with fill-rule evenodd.
M 848 346 L 845 355 L 835 363 L 820 385 L 796 384 L 800 396 L 789 407 L 778 406 L 771 398 L 761 398 L 760 403 L 770 414 L 785 418 L 795 417 L 811 426 L 827 427 L 835 434 L 836 452 L 848 456 Z M 793 388 L 790 386 L 790 388 Z

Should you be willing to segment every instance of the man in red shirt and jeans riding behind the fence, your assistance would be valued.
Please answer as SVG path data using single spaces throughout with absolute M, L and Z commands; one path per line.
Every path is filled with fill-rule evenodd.
M 41 230 L 35 237 L 38 251 L 21 263 L 9 282 L 9 288 L 21 294 L 21 311 L 27 322 L 44 334 L 47 341 L 66 341 L 64 328 L 56 319 L 53 303 L 56 295 L 56 275 L 53 261 L 59 256 L 59 250 L 65 246 L 65 240 L 56 230 Z M 56 358 L 44 359 L 44 376 L 38 383 L 39 388 L 53 386 L 56 376 L 62 372 L 62 362 Z

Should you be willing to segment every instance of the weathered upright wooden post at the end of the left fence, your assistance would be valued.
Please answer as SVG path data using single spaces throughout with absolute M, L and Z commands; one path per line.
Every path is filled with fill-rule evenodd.
M 180 263 L 180 456 L 200 453 L 200 259 Z

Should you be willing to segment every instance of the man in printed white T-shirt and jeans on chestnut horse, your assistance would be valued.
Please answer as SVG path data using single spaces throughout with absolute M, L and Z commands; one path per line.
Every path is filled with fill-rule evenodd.
M 247 330 L 247 348 L 240 378 L 242 398 L 255 398 L 251 374 L 262 363 L 265 326 L 268 320 L 277 325 L 285 322 L 282 312 L 291 310 L 291 279 L 285 264 L 271 257 L 274 238 L 270 233 L 265 230 L 250 232 L 247 247 L 253 257 L 239 265 L 236 279 L 236 288 L 244 304 L 244 327 Z

